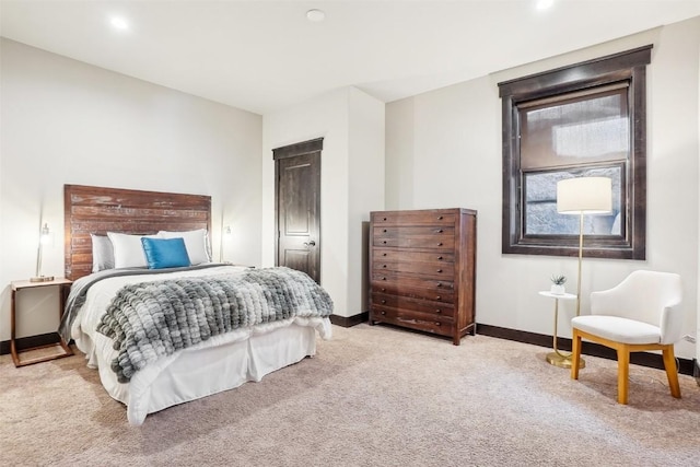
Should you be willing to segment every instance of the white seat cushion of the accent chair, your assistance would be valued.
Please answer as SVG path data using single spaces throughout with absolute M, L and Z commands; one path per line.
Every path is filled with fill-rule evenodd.
M 661 329 L 634 319 L 606 315 L 576 316 L 571 326 L 584 332 L 622 343 L 658 343 Z

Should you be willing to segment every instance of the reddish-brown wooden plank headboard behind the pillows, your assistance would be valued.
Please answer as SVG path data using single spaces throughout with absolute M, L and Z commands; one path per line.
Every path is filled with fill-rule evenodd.
M 66 277 L 92 272 L 90 234 L 211 231 L 211 197 L 159 191 L 63 186 Z

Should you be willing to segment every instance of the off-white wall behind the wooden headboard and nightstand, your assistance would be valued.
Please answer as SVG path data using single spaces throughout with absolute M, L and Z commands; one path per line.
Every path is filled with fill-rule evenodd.
M 259 266 L 261 116 L 2 39 L 0 340 L 12 280 L 35 273 L 39 221 L 54 231 L 44 272 L 63 271 L 63 184 L 210 195 L 212 246 Z M 19 336 L 56 330 L 55 291 L 25 291 Z M 57 315 L 57 313 L 56 313 Z

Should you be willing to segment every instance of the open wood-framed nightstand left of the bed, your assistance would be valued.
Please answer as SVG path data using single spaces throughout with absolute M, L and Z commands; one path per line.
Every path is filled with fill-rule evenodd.
M 63 339 L 59 336 L 59 341 L 56 343 L 49 343 L 46 346 L 37 346 L 31 347 L 28 349 L 18 350 L 15 345 L 15 327 L 16 327 L 16 294 L 21 290 L 26 289 L 35 289 L 39 287 L 58 287 L 59 288 L 59 303 L 58 303 L 58 316 L 59 318 L 63 315 L 63 307 L 66 306 L 66 297 L 68 295 L 68 291 L 70 290 L 70 284 L 72 281 L 63 278 L 56 278 L 51 281 L 45 282 L 31 282 L 28 280 L 23 281 L 14 281 L 12 282 L 12 306 L 10 308 L 10 352 L 12 353 L 12 361 L 14 362 L 14 366 L 25 366 L 34 363 L 46 362 L 48 360 L 60 359 L 62 357 L 69 357 L 73 354 L 73 351 L 68 347 L 68 343 L 63 341 Z M 45 353 L 40 352 L 39 357 L 22 359 L 21 353 L 28 352 L 31 350 L 38 349 L 49 349 L 51 347 L 56 348 L 56 352 Z

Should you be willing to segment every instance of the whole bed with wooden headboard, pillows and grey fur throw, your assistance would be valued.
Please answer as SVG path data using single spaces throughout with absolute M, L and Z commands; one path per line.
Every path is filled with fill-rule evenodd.
M 59 331 L 130 424 L 260 381 L 331 336 L 332 302 L 307 276 L 210 261 L 210 197 L 66 185 L 65 213 Z

